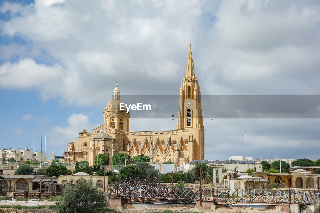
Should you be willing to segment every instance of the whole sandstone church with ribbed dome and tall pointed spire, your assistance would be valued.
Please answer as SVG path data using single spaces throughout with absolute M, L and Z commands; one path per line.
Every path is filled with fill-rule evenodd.
M 177 166 L 193 160 L 204 160 L 204 125 L 201 109 L 201 91 L 195 75 L 191 44 L 186 75 L 180 87 L 180 105 L 176 130 L 130 131 L 130 111 L 120 110 L 118 84 L 103 112 L 103 125 L 79 133 L 79 138 L 68 143 L 65 162 L 87 160 L 94 164 L 97 154 L 126 153 L 131 157 L 145 154 L 151 162 L 174 162 Z M 123 104 L 122 104 L 123 105 Z

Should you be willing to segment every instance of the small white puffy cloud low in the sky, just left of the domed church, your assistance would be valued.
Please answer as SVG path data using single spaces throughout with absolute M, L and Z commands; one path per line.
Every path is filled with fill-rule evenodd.
M 48 142 L 51 146 L 67 145 L 68 142 L 79 137 L 79 132 L 86 129 L 87 132 L 99 126 L 99 124 L 92 124 L 87 115 L 82 113 L 72 114 L 68 120 L 68 125 L 52 126 L 50 132 L 47 132 Z

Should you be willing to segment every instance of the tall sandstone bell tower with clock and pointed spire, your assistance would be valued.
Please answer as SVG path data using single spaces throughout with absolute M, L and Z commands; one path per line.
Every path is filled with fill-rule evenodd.
M 189 131 L 188 141 L 192 141 L 192 159 L 204 160 L 204 125 L 201 109 L 201 91 L 193 65 L 191 43 L 186 75 L 180 86 L 180 107 L 177 130 Z M 190 158 L 189 158 L 190 159 Z

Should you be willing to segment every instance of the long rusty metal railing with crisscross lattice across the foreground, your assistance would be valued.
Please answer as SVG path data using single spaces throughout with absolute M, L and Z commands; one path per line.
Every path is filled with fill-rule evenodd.
M 106 189 L 108 197 L 127 197 L 129 201 L 152 199 L 220 201 L 241 203 L 319 203 L 318 191 L 256 190 L 256 189 L 209 189 L 172 187 L 162 185 L 112 184 Z

